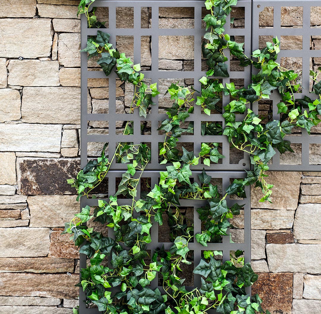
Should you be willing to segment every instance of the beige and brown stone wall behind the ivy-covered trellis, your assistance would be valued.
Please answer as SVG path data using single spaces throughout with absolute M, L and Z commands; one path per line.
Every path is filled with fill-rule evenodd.
M 66 184 L 80 167 L 77 3 L 9 1 L 0 13 L 0 313 L 69 314 L 78 302 L 78 288 L 74 287 L 78 252 L 69 237 L 61 235 L 64 222 L 79 210 L 74 191 Z M 293 8 L 284 10 L 282 16 L 293 18 L 289 10 L 300 16 Z M 143 13 L 148 27 L 148 8 L 143 8 Z M 160 25 L 193 27 L 189 10 L 174 13 L 160 11 Z M 233 27 L 242 27 L 242 10 L 233 13 Z M 102 19 L 104 14 L 100 12 Z M 319 19 L 315 21 L 317 25 Z M 261 23 L 271 25 L 270 9 Z M 286 26 L 298 27 L 298 23 L 296 18 Z M 175 46 L 167 55 L 160 51 L 160 68 L 191 70 L 191 39 L 183 38 L 187 49 L 180 49 L 177 56 L 182 39 L 172 37 L 160 39 L 162 47 Z M 131 40 L 118 38 L 117 47 L 133 49 Z M 288 44 L 292 42 L 288 40 Z M 320 49 L 318 37 L 311 38 L 312 48 Z M 150 58 L 150 38 L 143 38 L 145 69 L 150 67 Z M 317 67 L 319 59 L 314 58 L 311 67 Z M 89 67 L 95 69 L 95 62 Z M 164 92 L 166 88 L 160 89 Z M 130 86 L 119 81 L 118 112 L 128 112 L 129 92 Z M 108 110 L 108 80 L 91 80 L 88 95 L 89 112 Z M 161 111 L 169 99 L 161 97 L 160 104 Z M 119 122 L 117 127 L 121 132 L 124 125 Z M 107 128 L 103 122 L 88 124 L 89 132 L 101 133 Z M 148 128 L 146 125 L 144 130 L 148 132 Z M 89 145 L 89 156 L 99 150 L 99 146 Z M 257 202 L 256 190 L 252 194 L 252 265 L 259 272 L 253 291 L 265 300 L 271 313 L 314 314 L 321 310 L 321 172 L 275 172 L 269 180 L 275 183 L 273 204 Z M 241 220 L 236 218 L 235 225 L 242 228 Z

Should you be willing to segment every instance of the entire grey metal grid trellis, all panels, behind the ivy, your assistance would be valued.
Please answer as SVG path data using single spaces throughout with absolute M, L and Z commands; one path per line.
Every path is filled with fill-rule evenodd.
M 243 36 L 245 42 L 245 54 L 250 56 L 251 51 L 257 49 L 259 36 L 273 35 L 278 36 L 280 39 L 281 35 L 297 34 L 303 36 L 303 49 L 302 50 L 282 50 L 280 53 L 281 57 L 302 57 L 303 61 L 303 73 L 302 73 L 302 85 L 304 87 L 309 86 L 309 58 L 310 57 L 321 57 L 321 50 L 310 50 L 309 36 L 311 34 L 317 34 L 318 29 L 310 28 L 310 6 L 320 4 L 320 1 L 266 1 L 266 0 L 239 0 L 237 6 L 244 7 L 245 12 L 245 26 L 244 28 L 230 28 L 230 23 L 226 24 L 226 32 L 234 36 Z M 116 42 L 116 36 L 133 36 L 134 37 L 134 64 L 141 62 L 141 36 L 151 36 L 151 54 L 152 63 L 151 71 L 142 71 L 146 79 L 150 79 L 152 83 L 158 83 L 161 79 L 193 79 L 194 87 L 196 90 L 201 90 L 201 83 L 198 81 L 199 78 L 205 75 L 206 71 L 202 71 L 201 61 L 201 43 L 202 36 L 205 33 L 205 29 L 202 28 L 201 17 L 202 7 L 204 7 L 204 1 L 191 1 L 186 0 L 183 2 L 180 0 L 175 1 L 144 1 L 144 0 L 96 0 L 95 6 L 97 7 L 108 7 L 109 19 L 108 28 L 100 29 L 111 34 L 110 42 Z M 281 7 L 282 6 L 303 6 L 303 27 L 302 28 L 281 28 Z M 117 28 L 116 27 L 116 8 L 117 7 L 133 7 L 134 8 L 134 27 L 133 28 Z M 165 29 L 159 28 L 159 7 L 193 7 L 194 8 L 194 28 L 189 29 Z M 259 13 L 265 8 L 265 6 L 274 6 L 274 26 L 273 28 L 259 28 Z M 151 15 L 151 27 L 141 28 L 141 7 L 150 7 L 152 9 Z M 229 20 L 229 17 L 228 17 Z M 85 48 L 87 37 L 90 35 L 96 35 L 97 29 L 88 29 L 87 20 L 85 16 L 81 17 L 81 48 Z M 194 36 L 194 71 L 160 71 L 159 70 L 159 36 Z M 123 52 L 123 51 L 120 51 Z M 125 51 L 124 51 L 125 52 Z M 229 56 L 228 56 L 229 58 Z M 230 59 L 230 58 L 229 58 Z M 244 85 L 250 84 L 250 78 L 252 71 L 251 67 L 244 68 L 244 71 L 230 71 L 230 60 L 229 73 L 230 78 L 222 78 L 223 83 L 230 83 L 235 79 L 244 79 Z M 81 54 L 81 167 L 84 167 L 88 161 L 88 143 L 89 142 L 108 142 L 109 156 L 113 156 L 118 142 L 134 142 L 139 144 L 141 142 L 150 143 L 152 151 L 152 161 L 146 167 L 143 173 L 144 178 L 150 178 L 151 186 L 158 184 L 159 171 L 165 169 L 166 165 L 160 165 L 158 160 L 158 142 L 162 142 L 164 139 L 163 135 L 159 135 L 157 128 L 159 121 L 167 118 L 166 114 L 159 113 L 159 101 L 158 97 L 154 99 L 156 103 L 152 107 L 151 113 L 147 114 L 146 118 L 140 117 L 138 112 L 134 114 L 117 113 L 116 111 L 116 79 L 117 75 L 112 73 L 108 76 L 108 113 L 89 113 L 87 109 L 87 94 L 88 94 L 88 79 L 91 78 L 106 78 L 102 71 L 90 71 L 88 70 L 87 54 L 82 52 Z M 303 98 L 304 95 L 310 96 L 308 92 L 309 88 L 304 89 L 304 93 L 299 94 L 299 98 Z M 312 94 L 313 97 L 313 94 Z M 280 97 L 277 93 L 273 93 L 271 100 L 273 102 L 273 118 L 279 119 L 276 104 L 280 101 Z M 223 96 L 223 105 L 229 103 L 229 97 Z M 258 106 L 254 105 L 252 108 L 255 112 L 258 111 Z M 238 115 L 238 120 L 243 120 L 244 115 Z M 134 135 L 118 135 L 116 134 L 116 121 L 134 121 Z M 92 135 L 88 134 L 87 125 L 88 121 L 108 121 L 108 134 Z M 151 121 L 151 135 L 141 134 L 141 121 Z M 225 136 L 201 136 L 201 121 L 216 121 L 224 124 L 224 119 L 221 114 L 211 114 L 207 116 L 201 112 L 201 108 L 195 106 L 195 111 L 187 121 L 194 121 L 194 134 L 183 135 L 179 142 L 193 143 L 194 151 L 200 151 L 202 142 L 218 142 L 222 147 L 222 154 L 225 156 L 221 164 L 211 165 L 210 168 L 206 167 L 207 173 L 213 178 L 216 178 L 218 182 L 221 182 L 221 188 L 225 189 L 229 184 L 230 180 L 234 178 L 241 178 L 245 176 L 244 169 L 250 170 L 251 165 L 249 163 L 248 156 L 243 156 L 238 159 L 238 163 L 233 161 L 233 156 L 230 154 L 230 144 L 228 143 L 227 137 Z M 305 130 L 302 131 L 300 136 L 291 137 L 292 143 L 302 145 L 302 162 L 301 165 L 291 165 L 291 170 L 305 170 L 305 171 L 316 171 L 317 165 L 309 165 L 309 145 L 321 144 L 320 136 L 309 137 Z M 230 156 L 231 155 L 231 156 Z M 197 174 L 203 168 L 203 164 L 193 167 L 193 178 L 197 181 Z M 117 178 L 121 177 L 122 173 L 127 170 L 126 165 L 117 164 L 115 161 L 111 166 L 111 171 L 108 173 L 108 191 L 105 194 L 112 195 L 117 191 Z M 273 157 L 273 164 L 270 167 L 271 170 L 289 170 L 289 165 L 280 164 L 280 156 L 276 154 Z M 140 198 L 140 188 L 137 191 L 137 198 Z M 201 251 L 206 250 L 222 250 L 223 260 L 229 259 L 230 251 L 233 250 L 244 250 L 245 261 L 250 261 L 251 256 L 251 224 L 250 224 L 250 189 L 246 188 L 247 199 L 236 200 L 227 198 L 228 205 L 231 206 L 233 203 L 238 202 L 244 205 L 244 236 L 241 235 L 236 238 L 240 238 L 239 243 L 233 243 L 229 236 L 223 236 L 222 243 L 209 244 L 207 248 L 201 246 L 196 241 L 189 245 L 191 251 L 194 252 L 194 266 L 198 265 L 201 258 Z M 119 200 L 120 204 L 125 204 L 126 200 Z M 194 208 L 194 230 L 195 234 L 201 230 L 201 221 L 198 219 L 198 213 L 196 208 L 203 206 L 204 201 L 191 201 L 182 200 L 182 207 Z M 86 205 L 97 206 L 97 200 L 86 200 L 81 199 L 81 207 Z M 151 229 L 152 242 L 148 245 L 148 249 L 151 252 L 160 247 L 163 243 L 159 242 L 158 232 L 159 227 L 156 223 L 153 224 Z M 239 230 L 234 231 L 235 235 Z M 108 230 L 108 236 L 112 236 L 112 230 Z M 164 243 L 165 249 L 169 249 L 171 243 Z M 86 267 L 86 256 L 81 254 L 80 267 Z M 194 275 L 194 286 L 200 286 L 200 276 Z M 152 282 L 152 288 L 158 286 L 158 278 Z M 162 287 L 159 287 L 162 292 Z M 85 295 L 80 289 L 80 313 L 99 313 L 97 309 L 86 309 L 84 301 Z

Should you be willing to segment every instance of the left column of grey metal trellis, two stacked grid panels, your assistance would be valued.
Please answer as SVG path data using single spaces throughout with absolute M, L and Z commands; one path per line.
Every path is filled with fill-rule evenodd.
M 162 78 L 192 78 L 194 79 L 194 86 L 196 90 L 201 90 L 201 83 L 198 81 L 202 76 L 205 76 L 206 71 L 201 71 L 201 43 L 202 36 L 205 33 L 205 29 L 202 29 L 201 24 L 201 15 L 202 7 L 204 7 L 204 1 L 127 1 L 126 7 L 134 7 L 134 28 L 132 29 L 120 29 L 116 28 L 116 7 L 125 6 L 124 1 L 120 0 L 96 0 L 95 6 L 97 7 L 109 7 L 109 26 L 106 29 L 100 29 L 111 34 L 110 42 L 116 42 L 116 36 L 118 35 L 127 35 L 134 36 L 134 64 L 140 63 L 141 61 L 141 36 L 152 36 L 151 41 L 151 51 L 152 51 L 152 70 L 151 71 L 142 71 L 146 79 L 151 79 L 152 83 L 159 82 L 159 79 Z M 141 7 L 151 7 L 152 8 L 152 27 L 149 29 L 141 29 Z M 160 29 L 158 28 L 158 19 L 159 19 L 159 7 L 194 7 L 195 12 L 195 27 L 192 29 Z M 243 29 L 230 29 L 230 24 L 226 24 L 226 31 L 230 35 L 235 36 L 244 36 L 245 40 L 245 53 L 250 55 L 251 53 L 251 1 L 250 0 L 239 0 L 238 6 L 245 7 L 245 28 Z M 229 21 L 229 18 L 227 19 Z M 87 36 L 96 35 L 97 29 L 87 29 L 87 21 L 85 16 L 81 17 L 81 48 L 85 48 L 87 42 Z M 159 41 L 158 36 L 182 36 L 189 35 L 194 36 L 194 69 L 195 71 L 160 71 L 159 70 Z M 155 40 L 156 38 L 156 40 Z M 227 56 L 229 58 L 229 56 Z M 230 69 L 229 69 L 230 70 Z M 146 170 L 143 173 L 143 177 L 150 177 L 151 184 L 158 183 L 159 171 L 164 169 L 166 165 L 160 165 L 158 162 L 158 142 L 163 141 L 163 136 L 158 135 L 158 123 L 167 118 L 165 114 L 158 113 L 158 99 L 154 99 L 156 103 L 152 107 L 152 112 L 147 114 L 146 119 L 139 117 L 138 112 L 134 114 L 125 114 L 125 113 L 116 113 L 116 78 L 117 75 L 112 73 L 108 76 L 108 86 L 109 86 L 109 100 L 108 100 L 108 113 L 106 114 L 92 114 L 87 112 L 87 89 L 88 89 L 88 78 L 105 78 L 105 74 L 102 71 L 88 71 L 87 63 L 87 54 L 82 52 L 81 54 L 81 167 L 84 167 L 87 163 L 88 156 L 88 143 L 89 142 L 100 142 L 100 143 L 109 143 L 109 156 L 114 154 L 116 143 L 118 142 L 134 142 L 138 144 L 141 142 L 151 143 L 152 150 L 152 162 L 146 167 Z M 244 71 L 230 71 L 230 78 L 223 78 L 223 83 L 230 83 L 233 79 L 244 79 L 244 84 L 248 85 L 250 83 L 251 77 L 251 68 L 247 67 Z M 220 78 L 221 79 L 221 78 Z M 229 103 L 229 97 L 223 97 L 223 105 Z M 239 120 L 244 118 L 243 115 L 239 115 Z M 134 136 L 132 135 L 116 135 L 116 121 L 134 121 Z M 225 189 L 230 184 L 230 179 L 242 178 L 245 176 L 244 168 L 250 168 L 250 163 L 248 156 L 245 156 L 244 159 L 240 160 L 238 164 L 230 163 L 230 145 L 225 136 L 201 136 L 201 121 L 221 121 L 224 124 L 224 119 L 221 114 L 211 114 L 207 116 L 201 112 L 201 108 L 195 106 L 194 114 L 192 114 L 189 121 L 194 121 L 194 134 L 192 136 L 182 136 L 179 140 L 181 143 L 192 142 L 194 143 L 194 151 L 198 152 L 201 148 L 202 142 L 218 142 L 222 145 L 222 153 L 225 155 L 223 158 L 222 164 L 211 165 L 210 168 L 206 167 L 207 173 L 214 178 L 219 178 L 222 181 L 222 187 Z M 108 121 L 108 134 L 103 135 L 88 135 L 87 133 L 87 123 L 88 121 Z M 151 135 L 141 135 L 140 124 L 141 121 L 151 121 L 152 124 L 152 134 Z M 199 170 L 203 168 L 204 165 L 200 164 L 193 167 L 195 171 L 193 177 L 197 179 L 197 174 Z M 111 166 L 112 171 L 108 172 L 108 191 L 105 191 L 106 194 L 112 195 L 117 191 L 115 178 L 121 177 L 122 173 L 127 170 L 126 165 L 117 164 L 115 161 Z M 201 246 L 199 243 L 194 240 L 194 243 L 189 245 L 190 250 L 194 251 L 194 265 L 198 265 L 201 258 L 201 251 L 205 249 L 210 250 L 222 250 L 223 251 L 223 260 L 228 260 L 230 258 L 230 251 L 232 250 L 244 250 L 245 261 L 250 261 L 250 250 L 251 250 L 251 226 L 250 226 L 250 189 L 246 187 L 247 199 L 245 200 L 230 200 L 227 198 L 228 205 L 231 206 L 233 203 L 238 202 L 239 204 L 244 205 L 244 241 L 243 243 L 232 243 L 230 241 L 230 236 L 223 236 L 222 243 L 209 244 L 207 248 Z M 140 191 L 137 191 L 137 197 L 140 197 Z M 120 202 L 125 202 L 126 200 L 120 200 Z M 128 201 L 127 201 L 128 202 Z M 192 205 L 191 205 L 192 203 Z M 198 213 L 195 209 L 204 205 L 206 201 L 194 201 L 182 200 L 181 206 L 194 207 L 194 229 L 195 234 L 201 230 L 201 221 L 198 219 Z M 81 208 L 86 205 L 95 206 L 97 205 L 97 200 L 87 200 L 81 199 Z M 108 236 L 112 236 L 112 230 L 109 229 Z M 159 243 L 158 239 L 158 224 L 154 223 L 152 226 L 152 242 L 149 244 L 149 249 L 153 250 L 156 247 L 161 247 L 163 243 Z M 165 248 L 169 248 L 171 243 L 165 243 Z M 81 254 L 80 256 L 80 268 L 86 267 L 86 256 Z M 158 283 L 157 280 L 153 281 L 152 288 L 156 288 Z M 194 274 L 194 286 L 200 286 L 200 276 Z M 162 288 L 160 291 L 162 291 Z M 248 289 L 248 291 L 250 291 Z M 84 304 L 85 295 L 80 289 L 80 313 L 100 313 L 97 309 L 86 309 Z

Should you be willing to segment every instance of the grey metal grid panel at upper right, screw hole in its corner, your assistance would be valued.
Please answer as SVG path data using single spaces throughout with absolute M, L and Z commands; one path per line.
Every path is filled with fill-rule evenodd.
M 302 93 L 296 93 L 295 97 L 297 99 L 304 98 L 304 96 L 310 97 L 312 100 L 317 98 L 316 94 L 310 93 L 310 58 L 321 57 L 321 50 L 312 50 L 310 49 L 310 40 L 312 35 L 320 35 L 321 29 L 311 27 L 310 25 L 310 12 L 311 6 L 321 6 L 321 1 L 319 0 L 253 0 L 253 9 L 252 9 L 252 48 L 253 50 L 259 47 L 259 36 L 277 36 L 278 39 L 281 39 L 281 49 L 282 49 L 282 36 L 302 36 L 302 49 L 298 50 L 281 50 L 278 54 L 277 62 L 280 63 L 280 58 L 282 57 L 299 57 L 302 58 Z M 261 26 L 259 27 L 259 13 L 262 12 L 265 7 L 274 7 L 273 9 L 273 25 Z M 295 25 L 295 28 L 291 25 L 287 25 L 284 18 L 281 17 L 282 7 L 302 7 L 303 8 L 303 17 L 302 17 L 302 26 Z M 291 14 L 291 11 L 290 11 Z M 299 14 L 298 19 L 300 21 L 301 16 Z M 282 21 L 283 20 L 283 21 Z M 301 24 L 301 22 L 297 23 Z M 299 42 L 298 42 L 299 44 Z M 289 67 L 291 69 L 291 67 Z M 257 70 L 253 70 L 257 71 Z M 273 102 L 273 119 L 279 120 L 280 115 L 277 114 L 278 108 L 277 104 L 282 101 L 280 95 L 277 91 L 271 95 L 271 100 Z M 258 107 L 257 103 L 253 104 L 253 111 L 257 112 Z M 296 152 L 297 158 L 296 161 L 286 157 L 283 158 L 280 153 L 277 152 L 273 156 L 273 164 L 269 165 L 270 170 L 279 170 L 279 171 L 320 171 L 321 158 L 312 157 L 312 154 L 315 154 L 316 150 L 320 151 L 321 149 L 321 135 L 320 134 L 308 134 L 306 130 L 302 130 L 302 133 L 294 134 L 295 136 L 286 136 L 285 139 L 291 141 L 294 144 L 294 150 Z M 313 145 L 319 144 L 319 147 L 313 149 Z M 313 152 L 314 150 L 314 152 Z M 290 153 L 293 154 L 293 153 Z M 317 155 L 319 155 L 317 153 Z M 318 156 L 319 157 L 319 156 Z M 291 164 L 289 164 L 291 160 Z

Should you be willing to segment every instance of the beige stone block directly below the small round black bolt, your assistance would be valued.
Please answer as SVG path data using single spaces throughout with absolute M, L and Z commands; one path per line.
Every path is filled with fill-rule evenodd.
M 58 61 L 10 60 L 8 70 L 9 85 L 59 86 Z

